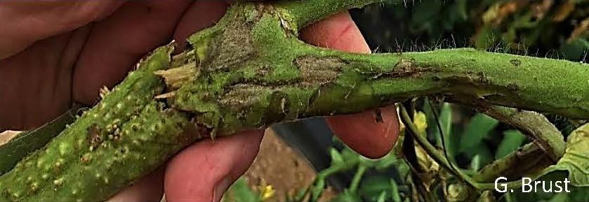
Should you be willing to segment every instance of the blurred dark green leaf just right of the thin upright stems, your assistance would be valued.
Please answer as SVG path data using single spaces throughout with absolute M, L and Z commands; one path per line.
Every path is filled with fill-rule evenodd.
M 466 129 L 460 138 L 458 152 L 467 152 L 477 147 L 498 124 L 498 120 L 482 113 L 477 113 L 477 115 L 472 117 L 468 125 L 466 125 Z

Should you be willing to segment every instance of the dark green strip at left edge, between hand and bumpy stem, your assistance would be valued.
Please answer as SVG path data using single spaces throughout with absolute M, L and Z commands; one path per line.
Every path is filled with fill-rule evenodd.
M 34 129 L 18 134 L 13 140 L 0 146 L 0 175 L 11 171 L 18 161 L 27 157 L 27 154 L 44 147 L 55 136 L 61 133 L 67 126 L 76 120 L 76 112 L 79 106 L 68 110 L 52 122 Z

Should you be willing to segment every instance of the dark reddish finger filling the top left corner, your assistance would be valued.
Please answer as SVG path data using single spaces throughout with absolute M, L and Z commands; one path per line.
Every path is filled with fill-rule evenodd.
M 121 1 L 0 1 L 0 59 L 112 13 Z

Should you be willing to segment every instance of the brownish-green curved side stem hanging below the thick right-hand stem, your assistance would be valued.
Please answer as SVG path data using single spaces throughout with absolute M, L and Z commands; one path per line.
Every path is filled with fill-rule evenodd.
M 502 106 L 491 106 L 481 110 L 485 114 L 510 124 L 529 136 L 538 147 L 548 154 L 552 161 L 558 161 L 564 154 L 564 149 L 567 146 L 564 137 L 544 115 Z

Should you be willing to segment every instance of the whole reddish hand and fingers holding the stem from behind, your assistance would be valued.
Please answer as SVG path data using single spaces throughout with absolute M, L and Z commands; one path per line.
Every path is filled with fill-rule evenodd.
M 210 27 L 221 1 L 0 1 L 0 131 L 31 129 L 72 102 L 91 105 L 98 89 L 114 87 L 150 50 Z M 307 43 L 369 53 L 347 12 L 305 28 Z M 366 157 L 387 154 L 397 140 L 395 107 L 329 117 L 334 134 Z M 110 201 L 219 201 L 251 165 L 263 131 L 202 140 Z

